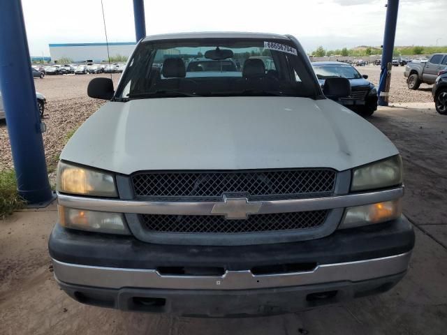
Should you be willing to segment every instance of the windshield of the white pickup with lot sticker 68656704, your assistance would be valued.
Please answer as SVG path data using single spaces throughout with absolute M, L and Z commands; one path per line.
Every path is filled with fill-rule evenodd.
M 318 87 L 291 41 L 202 38 L 140 43 L 115 99 L 305 96 Z

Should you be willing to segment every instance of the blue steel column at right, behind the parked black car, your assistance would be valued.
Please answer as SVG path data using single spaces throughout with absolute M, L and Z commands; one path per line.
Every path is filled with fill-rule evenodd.
M 386 91 L 386 77 L 388 75 L 387 66 L 388 63 L 393 61 L 398 9 L 399 0 L 388 0 L 388 6 L 386 9 L 385 33 L 383 36 L 380 82 L 379 89 L 377 90 L 377 94 L 379 96 L 379 101 L 377 103 L 381 106 L 388 106 L 388 99 L 385 99 L 384 94 L 388 94 L 388 92 Z

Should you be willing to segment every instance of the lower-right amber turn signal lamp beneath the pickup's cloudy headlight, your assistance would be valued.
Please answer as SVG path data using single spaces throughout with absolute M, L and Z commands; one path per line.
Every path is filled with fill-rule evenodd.
M 339 229 L 372 225 L 399 218 L 402 214 L 402 198 L 376 204 L 349 207 Z

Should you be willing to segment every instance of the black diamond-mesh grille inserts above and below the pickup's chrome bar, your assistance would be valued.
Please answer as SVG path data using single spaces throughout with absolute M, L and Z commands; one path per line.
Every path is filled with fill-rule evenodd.
M 245 198 L 249 203 L 264 200 L 321 198 L 335 190 L 337 172 L 330 169 L 137 172 L 131 176 L 136 199 L 155 202 L 189 201 L 226 203 Z M 231 201 L 231 200 L 230 200 Z M 257 202 L 256 202 L 257 201 Z M 256 213 L 256 212 L 255 212 Z M 212 211 L 214 214 L 214 209 Z M 252 214 L 239 220 L 223 215 L 140 214 L 147 233 L 239 234 L 288 232 L 318 228 L 328 210 Z

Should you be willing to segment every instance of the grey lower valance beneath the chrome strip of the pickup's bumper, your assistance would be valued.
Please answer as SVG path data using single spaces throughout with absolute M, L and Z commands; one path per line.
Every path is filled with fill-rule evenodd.
M 110 289 L 60 281 L 59 285 L 76 301 L 93 306 L 190 317 L 237 318 L 292 313 L 386 292 L 404 275 L 405 272 L 369 281 L 340 281 L 258 290 Z

